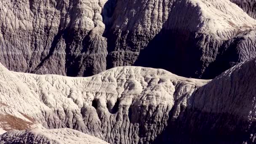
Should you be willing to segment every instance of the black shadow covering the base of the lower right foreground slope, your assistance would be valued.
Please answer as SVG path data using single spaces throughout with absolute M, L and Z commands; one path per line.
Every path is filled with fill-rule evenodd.
M 202 87 L 203 88 L 203 87 Z M 194 99 L 192 94 L 190 99 Z M 182 110 L 177 103 L 169 112 L 168 125 L 152 144 L 243 144 L 250 139 L 248 121 L 230 113 L 208 113 L 195 106 Z M 181 109 L 179 116 L 176 109 Z M 256 123 L 252 124 L 255 128 Z

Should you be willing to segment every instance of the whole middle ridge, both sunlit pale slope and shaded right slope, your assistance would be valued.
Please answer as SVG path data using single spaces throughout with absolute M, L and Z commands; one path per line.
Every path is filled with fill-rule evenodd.
M 16 118 L 24 129 L 72 128 L 112 144 L 250 142 L 255 71 L 256 59 L 213 80 L 143 67 L 83 78 L 17 73 L 1 65 L 0 115 Z M 5 123 L 5 131 L 17 127 Z

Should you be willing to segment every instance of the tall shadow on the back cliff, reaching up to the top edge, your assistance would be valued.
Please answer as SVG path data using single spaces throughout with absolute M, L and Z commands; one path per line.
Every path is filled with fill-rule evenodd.
M 168 70 L 176 75 L 198 78 L 201 75 L 203 50 L 196 37 L 200 24 L 199 7 L 189 6 L 185 0 L 174 2 L 169 17 L 161 31 L 144 48 L 135 66 Z M 186 11 L 181 9 L 187 8 Z M 189 11 L 190 13 L 187 13 Z M 188 21 L 191 16 L 193 23 Z

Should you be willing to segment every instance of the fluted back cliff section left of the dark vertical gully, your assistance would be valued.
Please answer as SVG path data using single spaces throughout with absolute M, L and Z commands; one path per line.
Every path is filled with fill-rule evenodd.
M 2 0 L 0 57 L 10 70 L 93 75 L 106 69 L 106 0 Z

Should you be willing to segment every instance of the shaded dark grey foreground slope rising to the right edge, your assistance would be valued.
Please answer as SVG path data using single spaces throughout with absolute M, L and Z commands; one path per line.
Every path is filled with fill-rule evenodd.
M 256 59 L 245 61 L 195 90 L 157 142 L 254 144 L 255 71 Z

